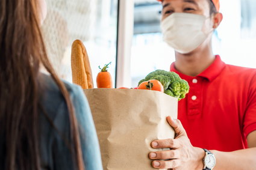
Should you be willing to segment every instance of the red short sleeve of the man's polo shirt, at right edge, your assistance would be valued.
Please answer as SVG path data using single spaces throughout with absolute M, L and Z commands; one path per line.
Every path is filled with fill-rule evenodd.
M 254 75 L 249 83 L 247 100 L 248 102 L 243 122 L 243 132 L 245 133 L 245 137 L 256 130 L 256 71 L 254 71 Z

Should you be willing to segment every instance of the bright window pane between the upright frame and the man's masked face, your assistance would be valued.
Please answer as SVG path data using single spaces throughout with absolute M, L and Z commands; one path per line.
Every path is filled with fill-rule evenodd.
M 174 61 L 174 51 L 161 35 L 161 5 L 154 0 L 137 0 L 134 4 L 134 35 L 131 49 L 131 84 L 137 83 L 146 74 L 156 69 L 169 70 Z

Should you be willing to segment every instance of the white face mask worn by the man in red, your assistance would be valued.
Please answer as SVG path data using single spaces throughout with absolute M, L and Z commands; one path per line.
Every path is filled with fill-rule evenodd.
M 213 31 L 205 28 L 206 20 L 198 14 L 173 13 L 161 22 L 163 39 L 177 52 L 190 53 Z

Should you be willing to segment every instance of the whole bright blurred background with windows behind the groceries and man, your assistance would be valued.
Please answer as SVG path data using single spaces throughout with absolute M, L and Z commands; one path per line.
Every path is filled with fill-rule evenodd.
M 136 87 L 156 69 L 169 70 L 174 51 L 162 40 L 161 4 L 155 0 L 47 0 L 43 34 L 58 74 L 72 82 L 72 42 L 84 42 L 93 77 L 112 62 L 117 87 Z M 214 53 L 227 64 L 256 68 L 256 1 L 222 0 L 223 21 L 213 36 Z M 125 49 L 125 50 L 124 50 Z

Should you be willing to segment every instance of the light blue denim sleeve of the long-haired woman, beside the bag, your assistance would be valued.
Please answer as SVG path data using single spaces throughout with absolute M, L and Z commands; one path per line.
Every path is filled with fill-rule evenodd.
M 73 89 L 72 102 L 75 107 L 76 118 L 80 126 L 81 148 L 86 169 L 101 170 L 101 153 L 99 141 L 93 123 L 89 103 L 81 87 Z

